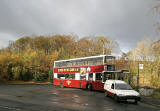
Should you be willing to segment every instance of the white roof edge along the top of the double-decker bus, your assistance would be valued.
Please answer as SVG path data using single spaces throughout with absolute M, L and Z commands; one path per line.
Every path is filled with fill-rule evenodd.
M 91 59 L 91 58 L 98 58 L 98 57 L 115 57 L 112 55 L 99 55 L 99 56 L 89 56 L 89 57 L 81 57 L 81 58 L 74 58 L 74 59 L 66 59 L 66 60 L 59 60 L 59 61 L 54 61 L 54 62 L 66 62 L 66 61 L 74 61 L 74 60 L 85 60 L 85 59 Z

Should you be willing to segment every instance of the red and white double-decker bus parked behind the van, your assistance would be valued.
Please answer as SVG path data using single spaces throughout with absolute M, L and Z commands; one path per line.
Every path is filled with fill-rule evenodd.
M 91 56 L 54 62 L 54 85 L 88 90 L 104 89 L 115 78 L 115 56 Z

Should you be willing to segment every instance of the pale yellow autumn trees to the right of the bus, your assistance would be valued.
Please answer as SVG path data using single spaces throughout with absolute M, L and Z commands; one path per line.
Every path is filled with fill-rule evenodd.
M 142 40 L 137 47 L 129 53 L 130 71 L 137 74 L 138 64 L 144 64 L 144 69 L 140 70 L 140 82 L 150 82 L 152 87 L 159 87 L 159 40 L 151 42 L 149 39 Z M 157 50 L 155 50 L 157 49 Z M 156 82 L 155 82 L 156 81 Z

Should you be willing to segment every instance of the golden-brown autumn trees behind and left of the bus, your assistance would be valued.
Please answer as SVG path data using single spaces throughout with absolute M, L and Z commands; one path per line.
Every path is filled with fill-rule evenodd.
M 108 37 L 84 37 L 52 35 L 23 37 L 11 41 L 0 50 L 0 81 L 52 79 L 55 60 L 100 55 L 118 49 L 116 41 Z M 113 47 L 114 46 L 114 47 Z

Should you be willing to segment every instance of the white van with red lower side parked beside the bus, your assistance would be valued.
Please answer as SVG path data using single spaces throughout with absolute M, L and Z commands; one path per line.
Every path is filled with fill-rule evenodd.
M 106 80 L 104 84 L 105 96 L 113 97 L 117 102 L 129 101 L 137 103 L 140 101 L 140 94 L 132 87 L 121 80 Z

